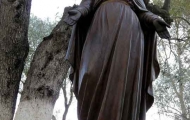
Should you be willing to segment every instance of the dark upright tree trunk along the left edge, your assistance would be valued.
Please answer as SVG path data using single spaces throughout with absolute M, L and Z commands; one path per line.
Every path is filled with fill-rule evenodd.
M 31 0 L 0 0 L 0 120 L 12 120 L 28 54 Z

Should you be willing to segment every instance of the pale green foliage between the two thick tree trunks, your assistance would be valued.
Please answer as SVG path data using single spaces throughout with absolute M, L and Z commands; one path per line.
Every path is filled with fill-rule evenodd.
M 56 22 L 52 22 L 48 18 L 42 20 L 37 16 L 30 16 L 30 23 L 28 29 L 28 41 L 30 48 L 24 69 L 25 75 L 27 74 L 27 71 L 30 67 L 30 62 L 33 58 L 36 48 L 38 47 L 42 39 L 50 34 L 55 25 Z

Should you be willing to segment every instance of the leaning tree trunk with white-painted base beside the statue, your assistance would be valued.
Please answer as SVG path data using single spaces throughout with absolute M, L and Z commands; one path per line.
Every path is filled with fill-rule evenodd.
M 63 18 L 64 15 L 35 52 L 15 120 L 52 118 L 55 102 L 69 68 L 64 57 L 71 29 L 63 22 Z

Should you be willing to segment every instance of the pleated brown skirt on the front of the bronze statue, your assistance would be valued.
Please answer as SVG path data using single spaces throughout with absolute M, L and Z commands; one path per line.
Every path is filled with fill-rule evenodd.
M 143 32 L 131 8 L 120 2 L 101 5 L 82 51 L 79 120 L 139 118 L 143 55 Z

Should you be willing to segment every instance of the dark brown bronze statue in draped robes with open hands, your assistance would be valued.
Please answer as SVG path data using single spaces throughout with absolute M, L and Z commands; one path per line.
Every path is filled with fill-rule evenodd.
M 169 38 L 169 26 L 142 0 L 83 0 L 65 22 L 78 119 L 145 120 L 159 74 L 155 31 Z

